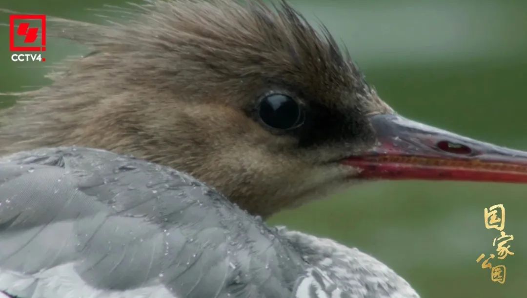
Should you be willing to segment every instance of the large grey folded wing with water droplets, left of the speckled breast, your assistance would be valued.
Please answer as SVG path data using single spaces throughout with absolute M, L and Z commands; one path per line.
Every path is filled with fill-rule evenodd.
M 287 297 L 306 264 L 192 177 L 87 148 L 0 158 L 0 291 Z

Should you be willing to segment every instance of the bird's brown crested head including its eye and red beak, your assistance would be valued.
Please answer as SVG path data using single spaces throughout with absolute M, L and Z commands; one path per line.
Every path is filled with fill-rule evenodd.
M 93 52 L 24 94 L 0 133 L 8 148 L 133 154 L 261 216 L 364 180 L 527 182 L 527 153 L 399 116 L 286 3 L 152 0 L 131 13 L 50 20 Z

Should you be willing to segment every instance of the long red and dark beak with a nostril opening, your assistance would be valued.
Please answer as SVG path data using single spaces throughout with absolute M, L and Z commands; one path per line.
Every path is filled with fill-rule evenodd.
M 527 183 L 527 152 L 499 147 L 398 115 L 370 117 L 377 145 L 344 164 L 365 179 Z

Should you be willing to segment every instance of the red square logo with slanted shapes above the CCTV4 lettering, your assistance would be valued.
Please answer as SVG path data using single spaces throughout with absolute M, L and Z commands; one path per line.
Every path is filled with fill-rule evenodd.
M 21 20 L 18 26 L 15 26 L 15 20 Z M 29 20 L 40 20 L 40 27 L 32 27 Z M 39 30 L 40 29 L 40 30 Z M 40 32 L 39 32 L 40 31 Z M 15 34 L 24 37 L 26 46 L 15 46 Z M 40 44 L 37 42 L 38 36 L 41 35 Z M 35 44 L 36 42 L 36 44 Z M 28 52 L 28 51 L 46 51 L 46 16 L 45 15 L 10 15 L 9 16 L 9 51 Z

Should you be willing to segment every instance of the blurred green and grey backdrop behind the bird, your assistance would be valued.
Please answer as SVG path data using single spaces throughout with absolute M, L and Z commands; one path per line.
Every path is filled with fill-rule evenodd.
M 3 0 L 0 7 L 101 22 L 91 9 L 123 0 Z M 292 1 L 348 46 L 399 113 L 484 141 L 527 150 L 527 2 L 523 0 Z M 0 14 L 0 23 L 8 14 Z M 46 67 L 83 49 L 47 42 L 44 63 L 14 63 L 0 27 L 0 92 L 49 82 Z M 0 107 L 13 98 L 0 97 Z M 505 284 L 476 258 L 493 252 L 483 209 L 502 203 L 514 235 Z M 422 297 L 526 297 L 527 186 L 376 182 L 271 218 L 376 256 Z M 497 262 L 495 262 L 497 264 Z M 495 264 L 495 265 L 496 265 Z

